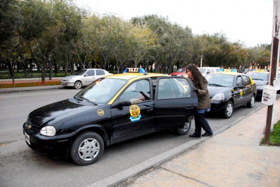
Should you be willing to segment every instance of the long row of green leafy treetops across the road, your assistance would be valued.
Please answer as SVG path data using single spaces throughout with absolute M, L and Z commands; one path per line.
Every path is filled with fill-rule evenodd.
M 264 67 L 270 45 L 246 48 L 230 42 L 224 33 L 192 34 L 191 28 L 158 15 L 132 17 L 95 15 L 72 0 L 2 0 L 0 2 L 0 68 L 15 64 L 29 77 L 36 64 L 41 78 L 47 65 L 64 76 L 74 66 L 98 67 L 120 72 L 124 66 L 144 67 L 170 73 L 173 66 L 200 63 L 204 66 Z M 152 69 L 154 67 L 154 70 Z

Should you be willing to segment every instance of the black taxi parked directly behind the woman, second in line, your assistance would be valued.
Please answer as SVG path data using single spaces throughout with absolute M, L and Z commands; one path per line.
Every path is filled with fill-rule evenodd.
M 256 85 L 246 74 L 217 72 L 209 73 L 205 78 L 211 98 L 210 111 L 221 112 L 224 118 L 230 118 L 235 108 L 254 106 Z

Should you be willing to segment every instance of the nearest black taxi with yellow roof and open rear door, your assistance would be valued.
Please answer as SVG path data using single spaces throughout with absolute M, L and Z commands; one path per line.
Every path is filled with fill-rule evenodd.
M 26 144 L 89 165 L 113 143 L 162 129 L 186 134 L 197 107 L 190 79 L 140 70 L 102 77 L 69 99 L 32 111 L 23 124 Z

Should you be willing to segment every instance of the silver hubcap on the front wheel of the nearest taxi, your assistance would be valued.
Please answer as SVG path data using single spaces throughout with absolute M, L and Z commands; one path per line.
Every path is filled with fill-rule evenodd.
M 91 161 L 98 155 L 99 150 L 100 146 L 98 141 L 94 138 L 87 138 L 80 143 L 78 155 L 83 161 Z

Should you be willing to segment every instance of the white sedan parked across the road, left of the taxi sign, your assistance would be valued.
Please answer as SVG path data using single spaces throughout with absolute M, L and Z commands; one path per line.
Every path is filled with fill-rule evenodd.
M 81 69 L 74 75 L 70 75 L 61 79 L 62 86 L 72 86 L 75 89 L 80 89 L 87 86 L 96 79 L 103 76 L 112 75 L 104 69 Z

